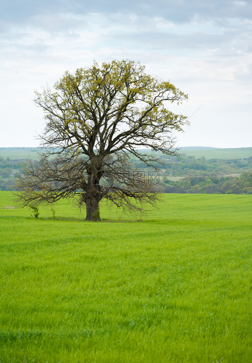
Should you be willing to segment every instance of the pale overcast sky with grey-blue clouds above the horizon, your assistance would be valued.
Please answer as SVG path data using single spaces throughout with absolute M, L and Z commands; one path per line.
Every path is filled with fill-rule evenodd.
M 34 89 L 112 59 L 188 93 L 178 146 L 252 146 L 252 0 L 1 1 L 0 147 L 39 146 Z

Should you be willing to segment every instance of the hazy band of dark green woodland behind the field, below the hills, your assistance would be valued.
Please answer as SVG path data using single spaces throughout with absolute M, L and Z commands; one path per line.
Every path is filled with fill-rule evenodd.
M 131 163 L 142 170 L 144 163 Z M 0 190 L 14 190 L 15 180 L 23 174 L 28 160 L 12 160 L 0 157 Z M 166 160 L 160 185 L 163 193 L 222 193 L 252 194 L 252 156 L 245 159 L 210 159 L 204 156 L 173 156 Z M 240 176 L 226 176 L 241 174 Z M 170 180 L 169 176 L 184 176 L 181 180 Z

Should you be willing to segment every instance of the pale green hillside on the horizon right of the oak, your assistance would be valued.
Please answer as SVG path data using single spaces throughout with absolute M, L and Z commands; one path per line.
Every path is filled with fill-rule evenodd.
M 195 158 L 205 156 L 206 159 L 244 159 L 252 156 L 252 147 L 185 151 L 181 148 L 180 152 L 187 156 L 195 156 Z

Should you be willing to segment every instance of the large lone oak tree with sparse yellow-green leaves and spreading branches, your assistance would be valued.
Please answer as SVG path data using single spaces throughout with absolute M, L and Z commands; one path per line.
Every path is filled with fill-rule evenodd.
M 133 61 L 94 62 L 65 72 L 54 91 L 36 92 L 34 102 L 47 120 L 40 136 L 44 152 L 17 180 L 22 207 L 74 198 L 79 207 L 86 205 L 86 220 L 99 221 L 103 198 L 126 213 L 156 204 L 154 182 L 129 158 L 160 170 L 156 151 L 176 155 L 172 134 L 188 121 L 164 102 L 180 103 L 187 95 L 144 71 Z

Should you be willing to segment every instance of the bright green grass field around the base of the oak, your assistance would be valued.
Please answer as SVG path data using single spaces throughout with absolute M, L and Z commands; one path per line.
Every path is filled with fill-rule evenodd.
M 34 219 L 11 198 L 0 192 L 1 363 L 252 361 L 252 195 L 166 194 L 117 223 L 67 201 Z

